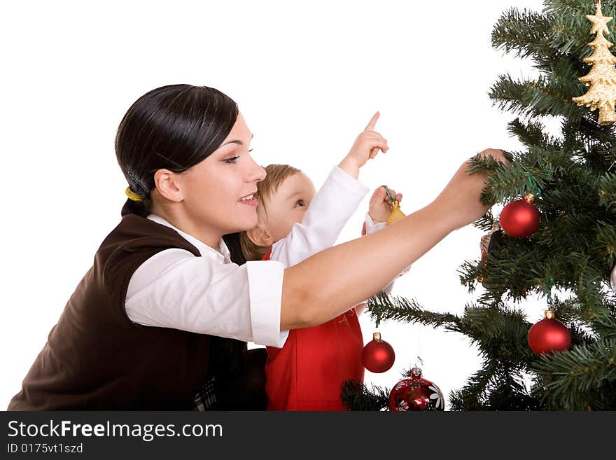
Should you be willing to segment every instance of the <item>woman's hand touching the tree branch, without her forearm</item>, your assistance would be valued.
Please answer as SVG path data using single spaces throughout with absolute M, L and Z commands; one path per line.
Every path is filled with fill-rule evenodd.
M 501 150 L 487 148 L 479 155 L 490 155 L 495 160 L 509 165 Z M 480 171 L 468 174 L 469 165 L 470 159 L 463 162 L 433 202 L 433 204 L 442 207 L 444 216 L 451 219 L 451 228 L 454 230 L 477 221 L 493 204 L 482 204 L 480 200 L 482 191 L 486 186 L 487 173 Z

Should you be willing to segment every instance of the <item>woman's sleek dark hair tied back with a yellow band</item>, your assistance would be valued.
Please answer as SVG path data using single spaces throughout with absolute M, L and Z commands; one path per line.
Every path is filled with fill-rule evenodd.
M 214 88 L 167 85 L 139 97 L 116 134 L 116 157 L 133 193 L 122 215 L 150 214 L 157 169 L 183 172 L 205 160 L 237 120 L 237 104 Z

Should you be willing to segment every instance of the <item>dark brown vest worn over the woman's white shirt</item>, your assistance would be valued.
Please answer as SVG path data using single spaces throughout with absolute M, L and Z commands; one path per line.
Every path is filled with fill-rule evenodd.
M 200 256 L 172 228 L 134 214 L 122 218 L 99 247 L 8 410 L 190 408 L 205 382 L 211 342 L 220 339 L 141 326 L 125 311 L 134 271 L 169 248 Z

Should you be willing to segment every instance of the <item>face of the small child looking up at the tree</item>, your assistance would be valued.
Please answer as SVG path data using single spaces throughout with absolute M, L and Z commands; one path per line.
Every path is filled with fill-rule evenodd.
M 303 172 L 288 176 L 267 199 L 264 227 L 274 242 L 286 237 L 294 223 L 301 222 L 316 189 Z

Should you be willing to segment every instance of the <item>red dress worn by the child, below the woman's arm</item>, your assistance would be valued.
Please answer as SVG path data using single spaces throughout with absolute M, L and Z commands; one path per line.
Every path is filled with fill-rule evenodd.
M 346 410 L 342 383 L 363 382 L 362 350 L 355 308 L 320 326 L 290 330 L 282 348 L 267 347 L 267 410 Z

